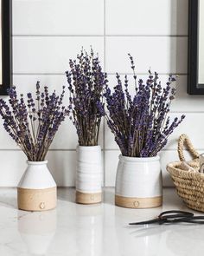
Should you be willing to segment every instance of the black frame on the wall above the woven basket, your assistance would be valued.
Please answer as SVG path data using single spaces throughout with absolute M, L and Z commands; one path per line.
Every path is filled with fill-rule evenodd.
M 204 95 L 204 84 L 198 82 L 199 0 L 188 0 L 188 94 Z

